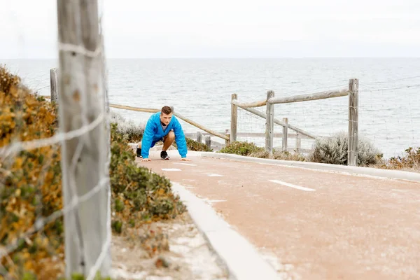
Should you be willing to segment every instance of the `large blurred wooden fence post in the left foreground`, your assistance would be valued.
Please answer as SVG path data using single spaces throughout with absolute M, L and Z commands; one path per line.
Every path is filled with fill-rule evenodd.
M 102 276 L 109 276 L 111 255 L 103 246 L 111 238 L 111 188 L 106 170 L 109 146 L 97 1 L 58 0 L 57 23 L 59 132 L 94 123 L 80 136 L 60 142 L 64 207 L 76 197 L 95 192 L 64 214 L 65 276 L 92 276 L 97 269 Z

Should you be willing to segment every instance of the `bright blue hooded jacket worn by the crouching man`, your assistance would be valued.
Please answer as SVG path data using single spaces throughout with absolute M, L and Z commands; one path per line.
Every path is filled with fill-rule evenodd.
M 143 139 L 141 139 L 141 156 L 148 158 L 151 147 L 155 146 L 155 143 L 162 140 L 171 130 L 174 130 L 176 146 L 178 146 L 181 158 L 186 158 L 187 141 L 179 120 L 172 115 L 171 121 L 164 132 L 160 124 L 160 112 L 154 113 L 147 121 Z

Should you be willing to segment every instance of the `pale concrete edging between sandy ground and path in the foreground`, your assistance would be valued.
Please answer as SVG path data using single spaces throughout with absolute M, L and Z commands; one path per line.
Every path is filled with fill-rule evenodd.
M 274 267 L 260 256 L 251 243 L 219 217 L 209 204 L 179 183 L 172 182 L 172 190 L 186 204 L 188 214 L 198 230 L 228 268 L 230 279 L 279 279 Z

